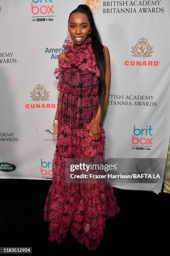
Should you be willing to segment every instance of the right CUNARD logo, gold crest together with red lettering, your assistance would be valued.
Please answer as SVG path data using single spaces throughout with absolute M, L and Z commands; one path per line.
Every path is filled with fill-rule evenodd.
M 139 38 L 135 46 L 132 46 L 132 56 L 138 57 L 139 60 L 125 60 L 125 66 L 159 66 L 160 61 L 157 60 L 146 60 L 145 57 L 151 57 L 153 47 L 150 46 L 148 40 L 144 37 Z M 143 58 L 141 58 L 143 57 Z

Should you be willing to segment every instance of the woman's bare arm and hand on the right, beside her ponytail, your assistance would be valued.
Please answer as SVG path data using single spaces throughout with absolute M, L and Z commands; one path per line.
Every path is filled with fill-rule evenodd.
M 105 51 L 105 61 L 106 61 L 106 71 L 105 71 L 106 94 L 105 94 L 105 99 L 104 99 L 103 114 L 104 114 L 107 104 L 108 104 L 110 82 L 111 82 L 110 54 L 109 54 L 109 49 L 107 48 L 107 46 L 104 46 L 104 51 Z M 99 126 L 100 121 L 101 121 L 101 105 L 99 103 L 99 107 L 97 109 L 96 116 L 92 122 L 90 129 L 89 129 L 89 134 L 93 137 L 94 140 L 98 140 L 101 136 L 100 126 Z

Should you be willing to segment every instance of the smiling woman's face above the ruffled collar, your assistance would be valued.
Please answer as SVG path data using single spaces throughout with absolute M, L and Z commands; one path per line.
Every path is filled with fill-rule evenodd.
M 83 44 L 91 31 L 91 26 L 85 13 L 72 13 L 68 28 L 75 46 Z

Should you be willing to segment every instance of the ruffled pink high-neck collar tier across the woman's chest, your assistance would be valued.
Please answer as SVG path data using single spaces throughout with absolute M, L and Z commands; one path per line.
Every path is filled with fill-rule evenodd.
M 67 36 L 63 48 L 65 56 L 60 60 L 59 67 L 54 70 L 56 79 L 60 79 L 60 75 L 65 69 L 71 68 L 72 70 L 81 69 L 95 73 L 96 77 L 100 77 L 100 71 L 96 64 L 93 49 L 91 47 L 91 37 L 88 36 L 83 44 L 74 47 L 74 41 L 71 36 Z

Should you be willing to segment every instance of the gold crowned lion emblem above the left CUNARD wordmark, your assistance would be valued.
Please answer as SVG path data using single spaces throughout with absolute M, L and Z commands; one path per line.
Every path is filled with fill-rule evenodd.
M 47 92 L 44 86 L 41 84 L 35 85 L 33 92 L 30 92 L 30 97 L 32 98 L 31 100 L 49 100 L 49 96 L 49 92 Z

